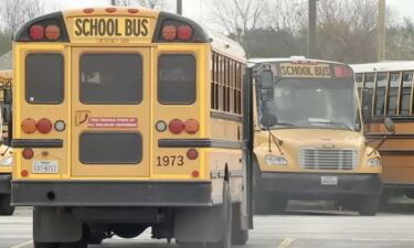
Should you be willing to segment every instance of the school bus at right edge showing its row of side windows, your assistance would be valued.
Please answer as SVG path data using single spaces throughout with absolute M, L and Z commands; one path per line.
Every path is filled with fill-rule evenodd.
M 414 62 L 351 65 L 363 103 L 365 137 L 379 143 L 383 161 L 384 202 L 390 193 L 414 198 L 413 72 Z M 384 119 L 395 122 L 388 134 Z

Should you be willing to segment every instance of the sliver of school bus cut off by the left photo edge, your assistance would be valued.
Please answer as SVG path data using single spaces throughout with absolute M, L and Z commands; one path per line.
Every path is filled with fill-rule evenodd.
M 2 112 L 10 106 L 4 103 L 7 93 L 11 90 L 12 84 L 12 72 L 11 71 L 0 71 L 0 132 L 2 133 L 0 138 L 0 215 L 12 215 L 14 213 L 14 207 L 10 206 L 11 201 L 11 172 L 12 172 L 12 150 L 4 145 L 4 141 L 8 141 L 8 126 L 3 122 Z M 10 94 L 10 91 L 9 91 Z M 9 99 L 10 100 L 10 99 Z

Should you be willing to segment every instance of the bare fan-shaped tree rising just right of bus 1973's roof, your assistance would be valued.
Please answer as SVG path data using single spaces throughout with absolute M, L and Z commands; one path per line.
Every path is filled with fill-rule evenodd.
M 210 9 L 216 24 L 245 44 L 244 34 L 259 26 L 265 7 L 266 0 L 212 0 Z

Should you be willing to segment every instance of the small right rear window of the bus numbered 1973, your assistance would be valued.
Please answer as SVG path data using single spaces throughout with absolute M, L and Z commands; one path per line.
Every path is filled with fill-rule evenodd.
M 190 105 L 195 101 L 193 55 L 164 54 L 158 58 L 158 100 L 167 105 Z

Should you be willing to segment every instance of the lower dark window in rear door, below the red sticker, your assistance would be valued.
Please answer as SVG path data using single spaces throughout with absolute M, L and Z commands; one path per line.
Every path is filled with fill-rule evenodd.
M 136 132 L 84 132 L 79 161 L 84 164 L 137 164 L 142 160 L 142 138 Z

